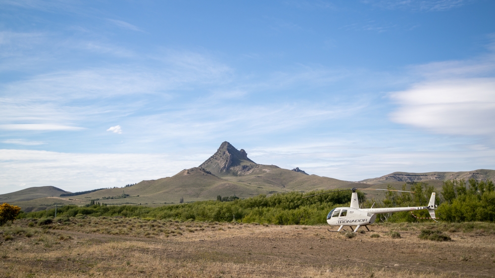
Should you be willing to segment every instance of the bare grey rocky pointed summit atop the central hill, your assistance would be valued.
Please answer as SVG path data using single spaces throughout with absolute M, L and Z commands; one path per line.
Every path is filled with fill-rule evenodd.
M 243 175 L 256 168 L 258 164 L 247 158 L 244 149 L 237 150 L 231 143 L 223 142 L 218 150 L 203 164 L 199 165 L 217 176 Z

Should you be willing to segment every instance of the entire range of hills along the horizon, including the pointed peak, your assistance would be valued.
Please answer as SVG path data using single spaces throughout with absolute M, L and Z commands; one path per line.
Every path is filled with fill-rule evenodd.
M 63 196 L 66 192 L 53 186 L 31 187 L 0 195 L 0 202 L 16 204 L 23 210 L 42 210 L 58 204 L 83 205 L 95 200 L 106 204 L 143 204 L 158 206 L 164 203 L 179 203 L 214 200 L 218 195 L 248 198 L 259 194 L 290 191 L 307 192 L 333 188 L 387 188 L 392 185 L 410 187 L 415 182 L 427 182 L 441 188 L 446 180 L 475 178 L 495 179 L 494 170 L 471 172 L 395 172 L 380 178 L 358 183 L 308 175 L 299 168 L 282 169 L 275 165 L 257 164 L 247 157 L 244 149 L 238 150 L 229 142 L 223 142 L 217 151 L 198 167 L 184 169 L 172 177 L 142 181 L 124 188 L 101 189 L 87 194 Z M 88 188 L 91 189 L 91 188 Z M 368 192 L 370 197 L 381 197 L 382 191 Z

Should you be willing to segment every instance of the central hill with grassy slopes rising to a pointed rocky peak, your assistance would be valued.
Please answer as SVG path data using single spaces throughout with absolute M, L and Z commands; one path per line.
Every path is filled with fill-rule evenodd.
M 358 184 L 363 186 L 363 184 Z M 289 191 L 310 191 L 352 186 L 350 182 L 281 169 L 274 165 L 257 164 L 223 142 L 218 150 L 199 167 L 185 169 L 173 177 L 143 181 L 126 188 L 103 189 L 73 196 L 79 200 L 97 199 L 104 203 L 163 204 L 214 200 L 218 195 L 248 198 L 259 194 Z M 364 185 L 365 186 L 365 185 Z M 108 197 L 127 194 L 126 198 Z M 138 196 L 139 195 L 139 196 Z M 104 199 L 105 198 L 105 199 Z

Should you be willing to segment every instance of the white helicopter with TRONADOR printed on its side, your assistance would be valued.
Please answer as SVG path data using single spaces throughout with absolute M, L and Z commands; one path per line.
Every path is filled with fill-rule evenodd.
M 376 189 L 376 188 L 352 188 L 352 189 L 344 189 L 344 190 L 336 190 L 336 191 L 330 191 L 330 192 L 324 192 L 324 193 L 319 193 L 319 194 L 314 194 L 314 195 L 309 195 L 309 196 L 304 196 L 303 198 L 311 197 L 311 196 L 316 196 L 316 195 L 321 195 L 321 194 L 328 194 L 328 193 L 333 193 L 333 192 L 338 192 L 338 191 L 345 191 L 345 190 L 352 190 L 352 196 L 350 198 L 350 207 L 339 207 L 339 208 L 334 208 L 328 213 L 327 216 L 327 223 L 332 226 L 340 226 L 339 230 L 337 231 L 330 231 L 330 232 L 340 232 L 344 226 L 349 226 L 353 232 L 356 232 L 359 227 L 364 226 L 368 232 L 370 230 L 368 229 L 367 225 L 373 224 L 376 219 L 377 214 L 381 213 L 392 213 L 392 212 L 400 212 L 400 211 L 413 211 L 413 210 L 420 210 L 420 209 L 427 209 L 428 212 L 430 213 L 431 219 L 436 221 L 435 217 L 435 209 L 437 208 L 437 205 L 435 205 L 435 192 L 432 193 L 430 197 L 430 202 L 428 203 L 428 206 L 426 207 L 398 207 L 398 208 L 373 208 L 373 205 L 369 209 L 361 209 L 359 208 L 359 201 L 357 199 L 357 193 L 356 190 L 385 190 L 385 191 L 398 191 L 398 192 L 409 192 L 409 193 L 414 193 L 413 191 L 403 191 L 403 190 L 391 190 L 391 189 Z M 352 228 L 352 226 L 356 226 L 356 229 Z M 346 231 L 346 230 L 344 230 Z

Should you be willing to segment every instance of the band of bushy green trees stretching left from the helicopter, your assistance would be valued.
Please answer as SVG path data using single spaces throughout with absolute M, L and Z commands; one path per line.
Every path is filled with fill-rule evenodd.
M 271 196 L 258 195 L 247 199 L 230 201 L 198 201 L 156 208 L 134 205 L 101 205 L 95 203 L 87 207 L 67 205 L 59 207 L 57 217 L 74 217 L 78 214 L 90 216 L 124 216 L 155 219 L 177 219 L 196 221 L 237 221 L 243 223 L 272 223 L 277 225 L 314 225 L 326 223 L 330 210 L 338 206 L 348 206 L 350 191 L 333 192 L 302 198 L 303 196 L 323 193 L 325 190 L 308 193 L 289 192 Z M 358 192 L 360 200 L 364 193 Z M 223 199 L 223 197 L 222 197 Z M 54 216 L 54 209 L 22 213 L 21 218 L 42 218 Z

